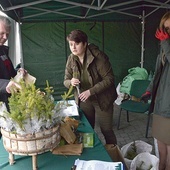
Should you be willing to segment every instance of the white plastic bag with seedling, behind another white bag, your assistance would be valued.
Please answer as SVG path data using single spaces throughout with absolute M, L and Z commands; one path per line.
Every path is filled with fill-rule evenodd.
M 128 154 L 129 151 L 132 150 L 134 142 L 135 142 L 137 154 L 140 154 L 140 153 L 143 153 L 143 152 L 148 152 L 148 153 L 152 152 L 152 145 L 150 145 L 150 144 L 148 144 L 144 141 L 141 141 L 141 140 L 136 140 L 136 141 L 133 141 L 133 142 L 130 142 L 130 143 L 124 145 L 121 148 L 121 153 L 124 157 L 125 163 L 126 163 L 128 168 L 130 168 L 130 165 L 131 165 L 131 162 L 132 162 L 133 159 L 128 159 L 127 154 Z

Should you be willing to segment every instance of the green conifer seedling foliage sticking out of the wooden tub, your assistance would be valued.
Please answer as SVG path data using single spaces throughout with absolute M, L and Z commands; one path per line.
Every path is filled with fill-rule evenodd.
M 37 117 L 43 120 L 51 120 L 53 109 L 55 107 L 51 95 L 54 92 L 53 88 L 49 86 L 48 81 L 45 92 L 37 89 L 34 84 L 25 84 L 23 80 L 20 81 L 21 90 L 12 92 L 9 98 L 9 117 L 15 121 L 21 129 L 26 119 L 33 119 Z M 23 129 L 24 130 L 24 129 Z

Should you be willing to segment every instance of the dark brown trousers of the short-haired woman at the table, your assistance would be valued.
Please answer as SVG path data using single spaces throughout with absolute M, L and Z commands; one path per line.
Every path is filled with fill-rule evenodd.
M 97 118 L 106 144 L 117 144 L 117 139 L 113 131 L 113 105 L 107 110 L 102 111 L 96 100 L 88 99 L 86 102 L 80 102 L 80 108 L 83 110 L 93 129 Z

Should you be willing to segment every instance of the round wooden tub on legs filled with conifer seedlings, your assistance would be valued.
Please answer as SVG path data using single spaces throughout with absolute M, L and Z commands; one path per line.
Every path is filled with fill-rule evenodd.
M 4 103 L 0 103 L 0 127 L 10 164 L 14 163 L 13 154 L 36 156 L 52 150 L 60 142 L 61 116 L 54 104 L 53 88 L 48 81 L 44 91 L 36 88 L 35 82 L 28 83 L 23 78 L 17 83 L 21 89 L 12 91 L 10 111 L 7 111 Z M 36 169 L 36 161 L 33 162 L 33 169 Z

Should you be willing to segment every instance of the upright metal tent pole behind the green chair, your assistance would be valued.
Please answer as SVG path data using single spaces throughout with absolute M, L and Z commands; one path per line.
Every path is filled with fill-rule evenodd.
M 144 36 L 145 36 L 145 11 L 143 10 L 142 12 L 142 44 L 141 44 L 141 68 L 143 68 L 143 63 L 144 63 Z

